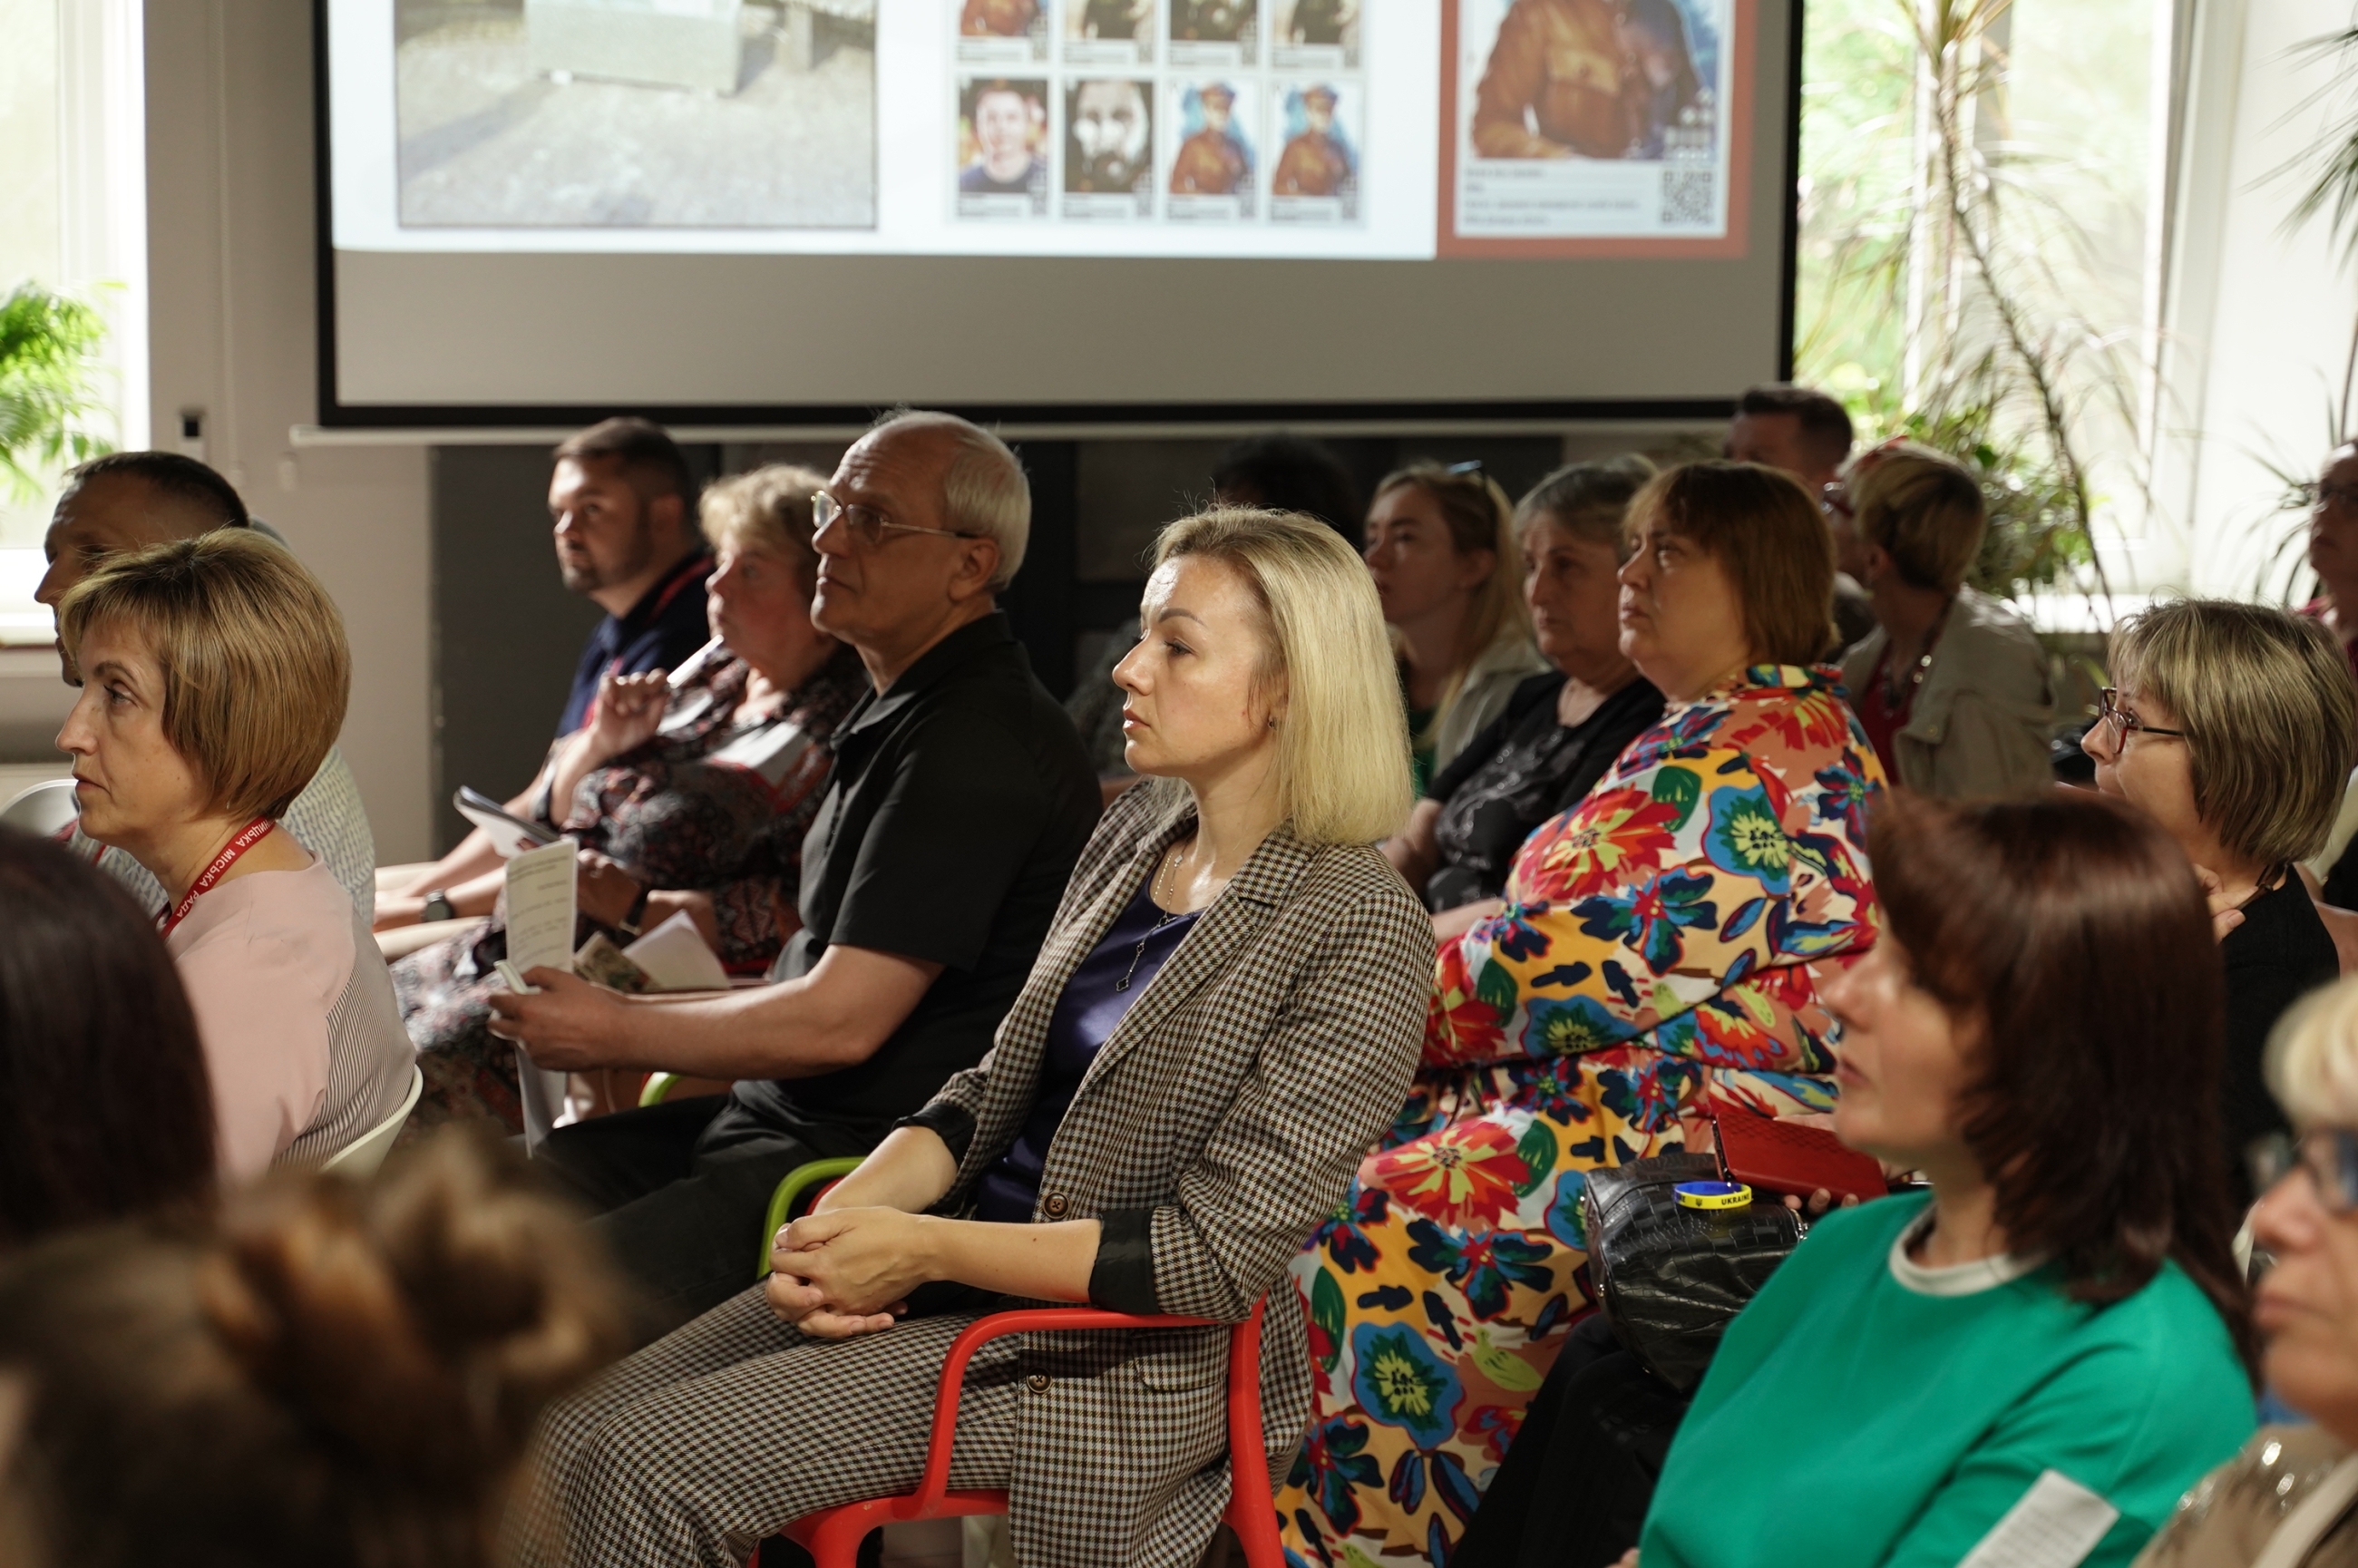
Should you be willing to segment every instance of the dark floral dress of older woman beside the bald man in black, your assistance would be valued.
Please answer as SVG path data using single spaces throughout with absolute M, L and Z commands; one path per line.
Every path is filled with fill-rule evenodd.
M 707 644 L 679 667 L 646 743 L 592 769 L 561 821 L 547 788 L 533 811 L 646 887 L 707 891 L 731 974 L 762 974 L 802 927 L 802 835 L 835 769 L 830 736 L 868 693 L 868 670 L 849 646 L 773 712 L 747 712 L 750 679 L 745 660 Z M 573 941 L 594 929 L 582 915 Z M 507 924 L 493 915 L 394 964 L 394 995 L 424 1073 L 413 1132 L 448 1120 L 523 1132 L 516 1047 L 490 1033 L 493 964 L 502 957 Z

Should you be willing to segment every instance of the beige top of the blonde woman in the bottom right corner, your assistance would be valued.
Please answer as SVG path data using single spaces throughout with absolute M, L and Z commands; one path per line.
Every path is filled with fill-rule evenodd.
M 2134 1568 L 2254 1568 L 2268 1547 L 2287 1568 L 2349 1568 L 2358 1563 L 2358 1516 L 2341 1500 L 2304 1509 L 2327 1490 L 2349 1450 L 2316 1427 L 2261 1427 L 2242 1452 L 2202 1476 L 2179 1500 L 2176 1514 L 2139 1554 Z M 2297 1523 L 2294 1514 L 2301 1518 Z M 2275 1535 L 2294 1528 L 2283 1542 Z

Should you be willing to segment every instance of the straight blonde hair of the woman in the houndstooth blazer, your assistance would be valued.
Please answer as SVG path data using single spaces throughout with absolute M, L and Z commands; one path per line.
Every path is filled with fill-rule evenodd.
M 1181 556 L 1231 566 L 1266 615 L 1262 679 L 1285 689 L 1278 799 L 1295 837 L 1375 844 L 1398 832 L 1415 804 L 1408 714 L 1365 561 L 1318 519 L 1259 507 L 1212 507 L 1167 526 L 1155 566 Z

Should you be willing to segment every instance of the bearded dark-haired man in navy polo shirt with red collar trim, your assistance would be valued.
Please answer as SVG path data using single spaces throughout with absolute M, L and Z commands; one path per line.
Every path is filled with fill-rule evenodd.
M 648 420 L 604 420 L 556 448 L 549 528 L 566 587 L 606 611 L 556 722 L 571 736 L 590 719 L 599 677 L 677 670 L 712 639 L 712 552 L 696 528 L 689 460 Z

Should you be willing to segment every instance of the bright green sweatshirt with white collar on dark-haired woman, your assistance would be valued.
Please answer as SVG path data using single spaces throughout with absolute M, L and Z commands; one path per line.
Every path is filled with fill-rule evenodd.
M 1728 1325 L 1644 1568 L 2120 1566 L 2252 1431 L 2176 1264 L 2092 1309 L 2016 1259 L 1912 1264 L 1926 1205 L 1827 1214 Z

